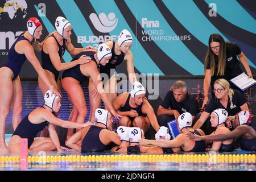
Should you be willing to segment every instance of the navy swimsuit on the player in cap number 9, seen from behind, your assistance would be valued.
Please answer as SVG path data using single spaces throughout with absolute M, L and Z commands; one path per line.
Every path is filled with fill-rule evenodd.
M 100 140 L 100 132 L 104 128 L 90 126 L 84 139 L 82 139 L 82 152 L 102 152 L 106 149 L 105 144 Z

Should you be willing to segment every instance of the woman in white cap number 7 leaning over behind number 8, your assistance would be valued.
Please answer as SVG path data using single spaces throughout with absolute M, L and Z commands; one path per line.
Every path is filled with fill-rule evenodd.
M 108 41 L 106 44 L 112 50 L 112 57 L 109 60 L 109 64 L 104 67 L 100 67 L 100 73 L 108 75 L 107 80 L 104 79 L 104 89 L 110 102 L 113 103 L 117 97 L 117 78 L 114 74 L 115 67 L 117 67 L 117 65 L 121 64 L 122 61 L 125 60 L 130 84 L 137 81 L 134 72 L 133 53 L 130 51 L 130 48 L 133 45 L 133 37 L 128 30 L 124 29 L 119 34 L 117 42 Z M 91 107 L 90 119 L 92 119 L 91 121 L 95 121 L 94 111 L 96 108 L 100 107 L 101 98 L 98 96 L 97 90 L 93 86 L 91 79 L 89 80 L 89 95 Z M 108 107 L 105 107 L 105 109 L 108 109 Z

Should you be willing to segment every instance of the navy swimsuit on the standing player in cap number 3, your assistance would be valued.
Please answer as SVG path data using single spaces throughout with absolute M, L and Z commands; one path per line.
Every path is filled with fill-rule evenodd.
M 65 43 L 65 39 L 63 39 L 63 44 L 62 46 L 60 46 L 59 42 L 57 41 L 57 39 L 55 38 L 54 35 L 51 35 L 57 42 L 57 45 L 59 47 L 59 51 L 58 54 L 60 56 L 60 58 L 64 55 L 65 53 L 65 47 L 66 47 L 66 43 Z M 48 71 L 52 72 L 54 77 L 55 77 L 55 81 L 57 81 L 57 79 L 59 78 L 59 71 L 57 71 L 57 69 L 54 67 L 54 65 L 52 64 L 52 61 L 49 57 L 49 55 L 47 53 L 45 53 L 42 49 L 41 52 L 41 59 L 42 59 L 42 68 L 43 69 L 47 69 Z M 53 60 L 54 61 L 54 60 Z

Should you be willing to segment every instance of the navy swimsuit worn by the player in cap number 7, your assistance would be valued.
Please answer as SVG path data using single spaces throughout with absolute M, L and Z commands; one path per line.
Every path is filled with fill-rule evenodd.
M 106 73 L 108 77 L 112 77 L 114 72 L 111 72 L 111 69 L 115 69 L 115 67 L 122 63 L 123 59 L 125 58 L 125 53 L 121 52 L 121 54 L 115 54 L 115 42 L 113 41 L 113 47 L 111 49 L 112 57 L 109 60 L 109 63 L 104 65 L 100 65 L 100 73 Z

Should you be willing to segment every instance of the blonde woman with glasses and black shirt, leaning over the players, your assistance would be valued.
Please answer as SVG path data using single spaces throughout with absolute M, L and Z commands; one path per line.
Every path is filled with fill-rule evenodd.
M 215 96 L 210 100 L 209 104 L 205 106 L 204 112 L 193 126 L 193 129 L 199 129 L 204 125 L 201 129 L 204 130 L 207 135 L 214 131 L 214 129 L 210 127 L 208 119 L 213 110 L 218 108 L 225 109 L 228 111 L 228 119 L 230 121 L 234 121 L 235 115 L 241 110 L 249 111 L 243 93 L 231 89 L 228 81 L 223 78 L 218 79 L 214 82 L 213 87 Z

